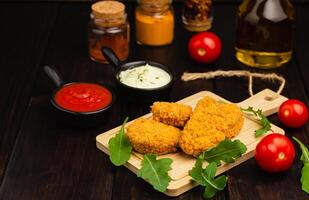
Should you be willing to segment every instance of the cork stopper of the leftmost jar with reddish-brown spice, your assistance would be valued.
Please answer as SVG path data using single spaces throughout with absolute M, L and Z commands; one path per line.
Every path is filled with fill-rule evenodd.
M 91 6 L 94 23 L 99 26 L 113 27 L 126 20 L 125 6 L 118 1 L 99 1 Z

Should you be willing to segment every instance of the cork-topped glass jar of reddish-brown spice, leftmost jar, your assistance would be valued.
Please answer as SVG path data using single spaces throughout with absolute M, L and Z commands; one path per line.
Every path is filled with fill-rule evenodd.
M 88 28 L 89 56 L 92 60 L 107 63 L 101 47 L 110 47 L 120 60 L 129 55 L 129 23 L 124 4 L 118 1 L 99 1 L 91 6 Z

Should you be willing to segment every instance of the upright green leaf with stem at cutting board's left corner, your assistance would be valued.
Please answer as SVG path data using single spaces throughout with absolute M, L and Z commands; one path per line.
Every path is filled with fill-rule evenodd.
M 124 132 L 124 126 L 128 117 L 124 120 L 118 134 L 108 141 L 109 159 L 116 166 L 125 164 L 131 156 L 132 146 Z

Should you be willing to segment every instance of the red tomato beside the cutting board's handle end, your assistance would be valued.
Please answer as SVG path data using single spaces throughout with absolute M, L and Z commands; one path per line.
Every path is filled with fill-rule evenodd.
M 308 109 L 303 102 L 289 99 L 281 104 L 278 117 L 287 127 L 298 128 L 308 121 Z

